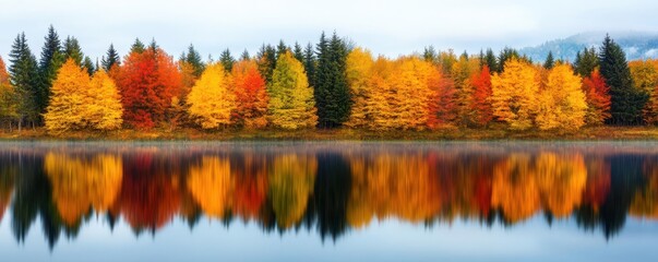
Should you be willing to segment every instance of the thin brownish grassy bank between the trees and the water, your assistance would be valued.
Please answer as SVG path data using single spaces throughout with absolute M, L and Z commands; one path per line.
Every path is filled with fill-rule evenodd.
M 195 129 L 176 131 L 154 129 L 149 131 L 119 130 L 112 132 L 71 132 L 49 134 L 45 129 L 27 129 L 21 133 L 0 132 L 0 140 L 658 140 L 655 127 L 593 127 L 576 132 L 514 131 L 505 129 L 457 129 L 434 131 L 369 130 L 224 130 L 206 132 Z

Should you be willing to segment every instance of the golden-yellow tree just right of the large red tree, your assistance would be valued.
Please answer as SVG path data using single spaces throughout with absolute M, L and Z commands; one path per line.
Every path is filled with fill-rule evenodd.
M 203 129 L 217 129 L 230 123 L 236 109 L 236 95 L 224 66 L 214 63 L 206 68 L 188 95 L 188 114 Z

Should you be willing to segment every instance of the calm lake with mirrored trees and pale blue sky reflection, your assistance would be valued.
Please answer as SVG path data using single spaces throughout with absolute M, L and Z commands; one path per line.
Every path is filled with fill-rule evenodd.
M 2 142 L 2 261 L 658 261 L 657 142 Z

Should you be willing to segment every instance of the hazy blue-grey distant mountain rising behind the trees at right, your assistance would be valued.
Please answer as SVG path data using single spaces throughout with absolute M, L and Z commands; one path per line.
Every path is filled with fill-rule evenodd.
M 605 32 L 582 33 L 564 39 L 547 41 L 536 47 L 525 47 L 519 51 L 537 62 L 542 62 L 549 51 L 553 51 L 555 59 L 573 62 L 576 59 L 576 52 L 585 47 L 596 47 L 598 50 L 605 37 Z M 610 32 L 610 37 L 624 49 L 629 60 L 658 58 L 658 33 Z

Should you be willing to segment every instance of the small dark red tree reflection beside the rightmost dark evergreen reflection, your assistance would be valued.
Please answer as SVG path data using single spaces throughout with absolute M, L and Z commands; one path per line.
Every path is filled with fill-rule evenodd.
M 610 192 L 610 165 L 602 157 L 587 159 L 587 183 L 583 203 L 598 210 Z

